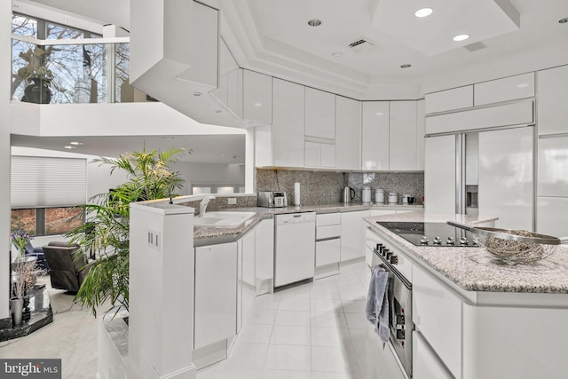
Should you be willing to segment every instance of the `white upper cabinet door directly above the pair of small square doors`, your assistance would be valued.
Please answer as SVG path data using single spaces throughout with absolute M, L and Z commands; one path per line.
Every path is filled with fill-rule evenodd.
M 305 135 L 335 139 L 335 94 L 305 88 Z

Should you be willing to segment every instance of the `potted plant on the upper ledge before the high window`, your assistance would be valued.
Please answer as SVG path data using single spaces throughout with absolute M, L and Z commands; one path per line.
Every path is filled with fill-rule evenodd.
M 52 46 L 36 46 L 28 51 L 20 51 L 20 58 L 28 64 L 18 70 L 18 76 L 28 82 L 22 101 L 38 104 L 49 104 L 51 90 L 49 88 L 53 74 L 47 67 Z

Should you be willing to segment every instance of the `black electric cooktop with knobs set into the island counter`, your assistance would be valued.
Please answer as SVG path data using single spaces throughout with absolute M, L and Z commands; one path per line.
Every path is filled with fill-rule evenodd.
M 477 247 L 468 231 L 446 223 L 405 223 L 377 221 L 392 233 L 416 246 L 432 247 Z

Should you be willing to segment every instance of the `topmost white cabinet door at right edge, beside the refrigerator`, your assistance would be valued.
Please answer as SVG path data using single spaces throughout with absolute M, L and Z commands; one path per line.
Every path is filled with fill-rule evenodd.
M 537 73 L 539 134 L 568 132 L 568 66 Z

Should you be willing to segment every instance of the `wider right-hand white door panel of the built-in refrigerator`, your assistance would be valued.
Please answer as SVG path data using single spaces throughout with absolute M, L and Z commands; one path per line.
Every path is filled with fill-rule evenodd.
M 533 231 L 533 128 L 479 133 L 479 214 Z

